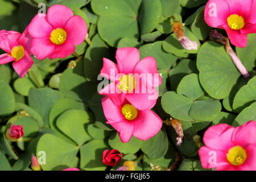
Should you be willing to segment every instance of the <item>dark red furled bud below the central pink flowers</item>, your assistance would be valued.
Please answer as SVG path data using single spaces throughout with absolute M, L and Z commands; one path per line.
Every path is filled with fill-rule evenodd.
M 123 155 L 118 150 L 105 150 L 102 162 L 108 166 L 115 166 L 122 158 Z

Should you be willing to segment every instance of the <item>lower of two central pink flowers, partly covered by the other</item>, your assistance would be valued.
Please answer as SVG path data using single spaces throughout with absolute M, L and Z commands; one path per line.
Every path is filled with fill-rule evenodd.
M 163 125 L 162 119 L 150 110 L 137 109 L 127 100 L 121 104 L 114 104 L 109 97 L 102 98 L 102 107 L 106 123 L 112 125 L 118 131 L 123 143 L 129 142 L 131 137 L 147 140 L 154 137 Z

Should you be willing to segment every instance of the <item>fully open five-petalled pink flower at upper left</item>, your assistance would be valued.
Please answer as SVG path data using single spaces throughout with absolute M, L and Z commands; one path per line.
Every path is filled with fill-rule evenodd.
M 74 16 L 63 5 L 49 7 L 47 15 L 37 14 L 28 25 L 32 36 L 31 51 L 42 60 L 63 58 L 75 51 L 75 46 L 85 40 L 87 27 L 81 16 Z

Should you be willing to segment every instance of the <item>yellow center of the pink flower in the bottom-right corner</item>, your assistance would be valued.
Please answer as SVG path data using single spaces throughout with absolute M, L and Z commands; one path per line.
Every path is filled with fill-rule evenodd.
M 243 162 L 245 162 L 246 151 L 240 146 L 232 147 L 229 149 L 229 152 L 226 155 L 226 158 L 231 164 L 233 164 L 234 166 L 238 166 L 240 164 L 243 164 Z

